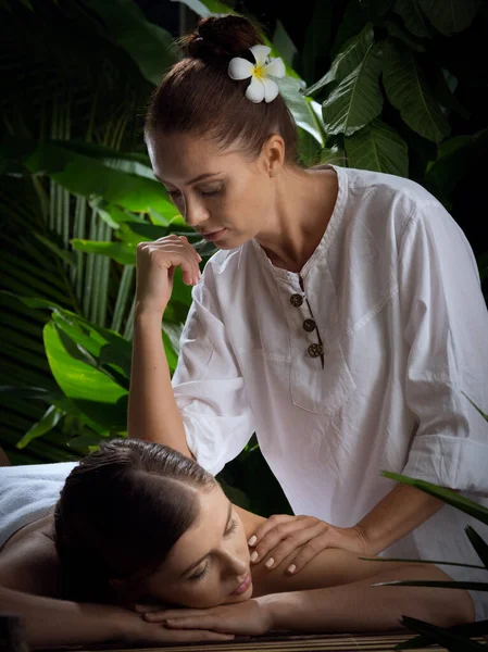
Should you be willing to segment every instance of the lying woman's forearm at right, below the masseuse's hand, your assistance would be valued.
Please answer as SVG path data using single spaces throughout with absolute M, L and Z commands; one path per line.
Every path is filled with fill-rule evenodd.
M 403 615 L 441 627 L 474 618 L 466 591 L 417 587 L 372 587 L 374 582 L 406 579 L 450 579 L 436 566 L 403 565 L 395 572 L 349 585 L 264 595 L 258 601 L 268 613 L 272 629 L 300 631 L 387 631 L 400 628 Z

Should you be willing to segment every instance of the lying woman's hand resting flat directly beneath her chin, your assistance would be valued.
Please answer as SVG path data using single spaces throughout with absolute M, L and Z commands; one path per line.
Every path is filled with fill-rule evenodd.
M 260 598 L 212 609 L 172 609 L 145 613 L 148 623 L 164 623 L 173 631 L 212 630 L 241 636 L 260 636 L 272 628 L 271 612 Z

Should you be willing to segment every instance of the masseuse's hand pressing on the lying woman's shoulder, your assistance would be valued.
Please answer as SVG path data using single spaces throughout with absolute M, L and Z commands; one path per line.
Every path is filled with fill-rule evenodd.
M 313 516 L 286 514 L 271 516 L 248 543 L 253 549 L 253 564 L 262 562 L 272 569 L 286 560 L 289 574 L 301 570 L 325 548 L 340 548 L 364 555 L 371 552 L 364 531 L 358 525 L 335 527 Z

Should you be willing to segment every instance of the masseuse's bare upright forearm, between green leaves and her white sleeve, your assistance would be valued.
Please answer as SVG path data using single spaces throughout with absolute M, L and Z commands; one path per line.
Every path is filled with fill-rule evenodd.
M 161 336 L 161 315 L 139 311 L 134 318 L 128 435 L 157 441 L 191 456 L 173 393 Z

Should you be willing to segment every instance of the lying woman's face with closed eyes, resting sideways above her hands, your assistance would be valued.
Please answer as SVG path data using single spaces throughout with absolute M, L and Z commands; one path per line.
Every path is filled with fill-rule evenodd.
M 140 589 L 161 603 L 208 607 L 252 594 L 249 550 L 238 514 L 216 486 L 198 494 L 200 515 Z

